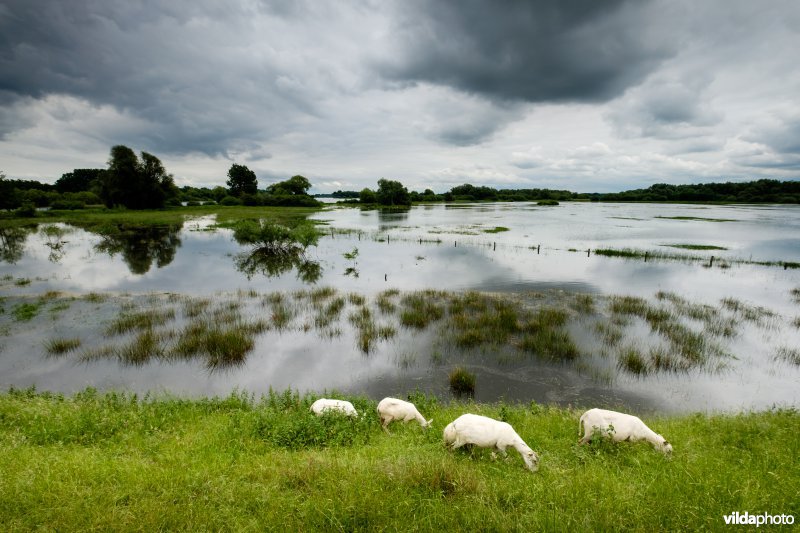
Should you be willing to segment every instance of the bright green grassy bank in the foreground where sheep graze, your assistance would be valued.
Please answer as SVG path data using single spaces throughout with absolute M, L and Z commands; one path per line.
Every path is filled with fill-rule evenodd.
M 800 413 L 645 417 L 673 443 L 578 446 L 580 410 L 440 405 L 424 431 L 317 419 L 291 392 L 185 400 L 84 391 L 0 395 L 0 526 L 47 530 L 722 529 L 734 511 L 800 519 Z M 540 453 L 449 452 L 464 412 L 510 422 Z

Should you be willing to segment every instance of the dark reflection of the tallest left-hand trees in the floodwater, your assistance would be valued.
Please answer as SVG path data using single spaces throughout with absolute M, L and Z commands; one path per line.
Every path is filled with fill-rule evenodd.
M 163 226 L 118 226 L 113 233 L 103 235 L 95 250 L 112 257 L 122 255 L 131 273 L 147 273 L 155 261 L 157 268 L 167 266 L 175 259 L 181 245 L 178 237 L 183 224 Z

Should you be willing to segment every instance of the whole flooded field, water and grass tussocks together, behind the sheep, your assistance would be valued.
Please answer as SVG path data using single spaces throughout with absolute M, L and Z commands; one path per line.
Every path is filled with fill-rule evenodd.
M 6 230 L 0 386 L 447 397 L 463 367 L 481 401 L 800 403 L 797 207 L 331 207 L 313 218 L 318 244 L 280 260 L 213 218 L 113 236 Z

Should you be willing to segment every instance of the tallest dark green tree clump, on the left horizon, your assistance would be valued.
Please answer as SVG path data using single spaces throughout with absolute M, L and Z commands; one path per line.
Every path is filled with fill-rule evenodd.
M 141 153 L 141 160 L 127 146 L 111 148 L 108 169 L 100 178 L 100 197 L 108 207 L 129 209 L 164 207 L 177 188 L 164 165 L 154 155 Z

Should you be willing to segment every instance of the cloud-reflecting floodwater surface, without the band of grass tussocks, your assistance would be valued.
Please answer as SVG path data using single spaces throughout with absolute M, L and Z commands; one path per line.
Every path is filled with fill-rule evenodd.
M 782 265 L 800 262 L 797 206 L 496 203 L 395 212 L 330 207 L 313 218 L 325 223 L 317 246 L 301 258 L 267 263 L 229 230 L 212 229 L 211 218 L 114 237 L 60 224 L 0 235 L 0 387 L 73 392 L 94 386 L 187 395 L 291 387 L 378 399 L 419 389 L 447 396 L 447 375 L 460 365 L 477 375 L 475 398 L 481 401 L 659 411 L 800 404 L 800 366 L 776 356 L 796 354 L 800 347 L 800 302 L 792 293 L 800 288 L 800 269 Z M 602 248 L 648 251 L 651 258 L 594 253 Z M 652 259 L 659 254 L 672 257 Z M 711 369 L 639 377 L 604 357 L 591 320 L 581 317 L 569 325 L 584 355 L 577 365 L 533 358 L 497 363 L 437 345 L 432 330 L 404 328 L 365 355 L 346 319 L 340 335 L 325 337 L 304 330 L 301 317 L 291 328 L 259 335 L 242 366 L 210 371 L 193 361 L 126 365 L 45 354 L 43 345 L 53 336 L 100 342 L 104 325 L 119 312 L 114 298 L 76 300 L 28 321 L 12 313 L 19 302 L 47 291 L 132 301 L 152 293 L 248 300 L 242 295 L 313 287 L 367 298 L 387 289 L 539 294 L 556 303 L 575 293 L 598 302 L 618 295 L 656 301 L 663 291 L 720 314 L 725 313 L 720 302 L 735 299 L 767 310 L 770 318 L 741 321 L 734 337 L 719 339 L 728 355 Z M 245 304 L 248 313 L 263 312 L 255 297 Z M 647 347 L 652 335 L 641 328 L 639 338 L 626 342 Z

